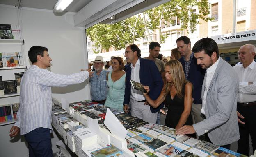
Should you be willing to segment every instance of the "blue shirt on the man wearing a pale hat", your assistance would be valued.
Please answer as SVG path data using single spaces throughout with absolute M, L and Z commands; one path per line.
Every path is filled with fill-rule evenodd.
M 97 75 L 96 71 L 92 74 L 93 77 L 90 78 L 91 100 L 101 101 L 107 99 L 107 72 L 102 69 L 100 75 Z

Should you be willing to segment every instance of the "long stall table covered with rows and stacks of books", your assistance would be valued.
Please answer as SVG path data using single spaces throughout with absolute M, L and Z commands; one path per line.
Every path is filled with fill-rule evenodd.
M 52 126 L 78 157 L 246 157 L 90 100 L 53 98 Z

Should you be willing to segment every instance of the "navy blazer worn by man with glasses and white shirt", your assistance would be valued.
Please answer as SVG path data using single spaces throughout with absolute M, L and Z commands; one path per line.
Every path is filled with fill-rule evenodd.
M 139 68 L 139 80 L 140 83 L 149 86 L 150 92 L 149 97 L 152 100 L 156 100 L 163 88 L 163 80 L 161 77 L 161 74 L 158 71 L 157 66 L 155 65 L 155 62 L 149 59 L 143 59 L 139 57 L 140 60 L 140 68 Z M 131 64 L 128 64 L 126 66 L 126 87 L 125 87 L 125 94 L 124 94 L 124 101 L 123 104 L 129 104 L 130 102 L 130 95 L 131 95 Z M 163 107 L 163 104 L 158 106 L 157 108 L 150 107 L 150 110 L 152 113 L 155 113 L 159 111 Z

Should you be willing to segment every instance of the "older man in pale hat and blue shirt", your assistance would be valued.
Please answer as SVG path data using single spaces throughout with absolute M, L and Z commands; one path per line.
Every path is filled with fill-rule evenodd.
M 96 56 L 94 61 L 94 73 L 90 78 L 91 83 L 91 100 L 100 104 L 105 103 L 107 99 L 107 72 L 103 67 L 107 65 L 107 62 L 103 61 L 102 56 Z

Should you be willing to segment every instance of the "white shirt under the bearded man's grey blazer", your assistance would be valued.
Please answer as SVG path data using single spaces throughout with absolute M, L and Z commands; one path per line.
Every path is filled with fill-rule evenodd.
M 220 57 L 212 66 L 210 66 L 210 68 L 206 69 L 206 80 L 204 83 L 205 90 L 204 90 L 204 94 L 203 94 L 202 109 L 201 109 L 201 113 L 204 115 L 205 115 L 207 92 L 209 90 L 210 83 L 212 82 L 213 75 L 216 71 L 217 65 L 219 64 L 219 60 L 220 60 Z

